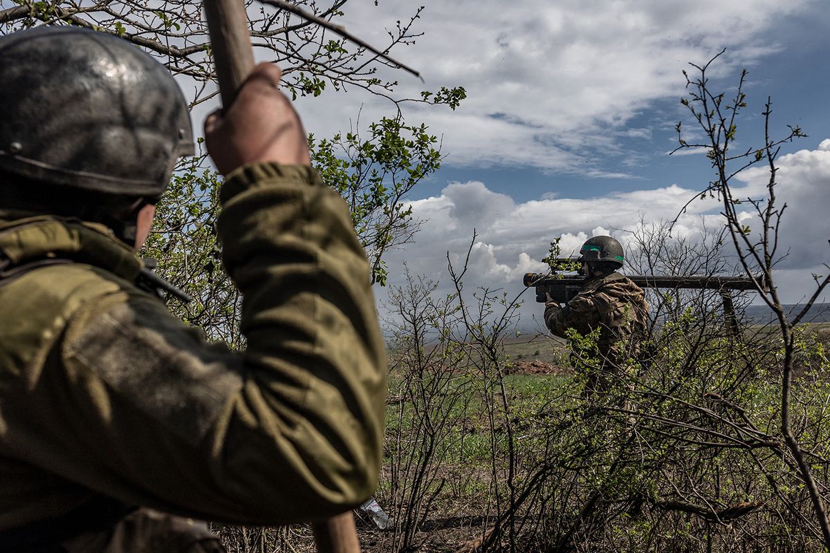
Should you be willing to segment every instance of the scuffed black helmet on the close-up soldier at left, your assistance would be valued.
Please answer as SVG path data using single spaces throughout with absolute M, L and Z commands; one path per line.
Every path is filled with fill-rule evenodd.
M 22 181 L 154 198 L 176 159 L 193 155 L 173 76 L 117 36 L 38 27 L 0 37 L 0 83 L 0 172 Z

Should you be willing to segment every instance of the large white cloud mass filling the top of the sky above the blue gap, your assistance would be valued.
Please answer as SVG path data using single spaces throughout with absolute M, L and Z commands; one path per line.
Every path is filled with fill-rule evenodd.
M 728 51 L 713 71 L 731 74 L 779 46 L 769 29 L 810 0 L 460 0 L 422 2 L 424 32 L 398 56 L 422 70 L 426 88 L 462 85 L 467 99 L 455 112 L 404 106 L 443 136 L 447 164 L 510 165 L 593 177 L 626 177 L 595 167 L 598 156 L 629 154 L 619 138 L 648 139 L 650 129 L 624 124 L 655 99 L 682 94 L 681 69 Z M 354 5 L 353 5 L 354 4 Z M 350 2 L 344 24 L 378 45 L 384 28 L 407 21 L 408 2 Z M 389 75 L 392 75 L 391 73 Z M 397 95 L 425 88 L 397 73 Z M 328 95 L 328 93 L 326 93 Z M 358 110 L 364 121 L 388 114 L 388 100 L 339 95 L 310 99 L 306 123 L 318 134 L 348 129 Z M 304 103 L 304 107 L 305 107 Z

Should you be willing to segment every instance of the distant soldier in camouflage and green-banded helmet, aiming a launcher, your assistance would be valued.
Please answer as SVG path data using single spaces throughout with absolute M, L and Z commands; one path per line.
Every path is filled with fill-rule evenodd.
M 608 390 L 608 376 L 620 374 L 626 360 L 637 357 L 647 332 L 648 304 L 642 289 L 616 272 L 625 259 L 617 240 L 594 236 L 585 241 L 579 255 L 585 284 L 564 308 L 548 294 L 544 323 L 559 337 L 568 337 L 569 329 L 583 336 L 599 329 L 599 359 L 588 373 L 586 389 L 592 395 Z

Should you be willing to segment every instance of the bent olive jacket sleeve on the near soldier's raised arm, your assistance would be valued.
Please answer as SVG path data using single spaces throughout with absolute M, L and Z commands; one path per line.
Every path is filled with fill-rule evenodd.
M 137 291 L 81 310 L 63 362 L 84 422 L 56 468 L 212 520 L 344 512 L 377 483 L 387 371 L 349 211 L 312 170 L 276 164 L 237 170 L 222 204 L 247 350 L 207 345 Z

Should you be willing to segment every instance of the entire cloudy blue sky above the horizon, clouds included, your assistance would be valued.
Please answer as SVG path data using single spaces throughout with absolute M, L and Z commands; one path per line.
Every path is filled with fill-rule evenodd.
M 367 2 L 371 3 L 371 2 Z M 740 147 L 763 135 L 760 112 L 774 102 L 774 135 L 798 124 L 808 138 L 784 148 L 780 192 L 789 202 L 782 226 L 791 255 L 778 272 L 785 302 L 810 290 L 810 274 L 830 260 L 830 109 L 827 2 L 818 0 L 589 1 L 516 0 L 422 2 L 424 36 L 397 56 L 421 70 L 426 88 L 463 85 L 456 111 L 413 105 L 411 122 L 442 136 L 442 169 L 410 196 L 427 221 L 415 243 L 388 258 L 391 283 L 403 262 L 414 274 L 447 284 L 444 252 L 466 252 L 478 234 L 471 284 L 513 290 L 526 270 L 542 269 L 549 240 L 565 249 L 593 234 L 640 221 L 671 220 L 710 168 L 701 154 L 668 156 L 674 125 L 686 125 L 680 104 L 688 62 L 726 53 L 710 71 L 713 88 L 732 90 L 741 68 L 749 106 Z M 349 4 L 344 23 L 383 43 L 383 26 L 411 12 L 406 2 L 378 7 Z M 425 88 L 398 75 L 402 96 Z M 385 104 L 384 104 L 385 102 Z M 325 105 L 300 102 L 306 126 L 318 135 L 388 113 L 388 101 L 340 95 Z M 307 109 L 305 109 L 307 106 Z M 748 172 L 736 186 L 763 191 L 764 174 Z M 717 225 L 715 202 L 698 202 L 681 217 L 676 235 L 692 237 L 706 221 Z M 747 224 L 753 218 L 747 216 Z M 825 270 L 826 273 L 826 270 Z M 383 291 L 380 291 L 383 295 Z

